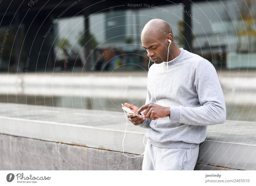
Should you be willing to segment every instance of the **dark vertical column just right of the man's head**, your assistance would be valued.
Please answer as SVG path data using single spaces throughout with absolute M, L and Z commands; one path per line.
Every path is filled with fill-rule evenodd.
M 185 49 L 188 50 L 189 52 L 192 51 L 192 32 L 191 32 L 191 18 L 188 16 L 186 12 L 191 13 L 191 3 L 189 0 L 183 0 L 183 4 L 185 5 L 184 7 L 184 37 L 185 37 Z

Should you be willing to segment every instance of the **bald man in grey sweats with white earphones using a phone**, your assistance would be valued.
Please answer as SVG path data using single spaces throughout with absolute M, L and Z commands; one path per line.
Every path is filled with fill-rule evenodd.
M 162 19 L 144 26 L 141 42 L 154 62 L 146 105 L 124 105 L 138 114 L 145 110 L 143 117 L 128 114 L 134 125 L 149 129 L 142 170 L 194 170 L 207 125 L 226 120 L 216 70 L 206 59 L 178 48 Z

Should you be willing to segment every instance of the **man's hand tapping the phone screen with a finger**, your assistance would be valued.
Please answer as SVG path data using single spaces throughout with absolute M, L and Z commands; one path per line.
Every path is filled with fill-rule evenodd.
M 156 120 L 158 118 L 164 118 L 171 115 L 171 108 L 170 107 L 163 107 L 161 105 L 157 105 L 155 103 L 149 103 L 147 105 L 143 105 L 137 111 L 140 113 L 142 110 L 145 110 L 143 113 L 146 118 Z

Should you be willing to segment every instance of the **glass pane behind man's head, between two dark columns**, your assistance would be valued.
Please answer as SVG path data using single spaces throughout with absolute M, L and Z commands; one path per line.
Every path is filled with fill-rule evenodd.
M 145 6 L 149 7 L 110 11 L 90 17 L 90 33 L 99 43 L 92 49 L 95 50 L 93 58 L 97 70 L 147 70 L 149 58 L 141 46 L 140 33 L 151 19 L 164 19 L 170 23 L 175 42 L 183 47 L 182 11 L 174 5 Z

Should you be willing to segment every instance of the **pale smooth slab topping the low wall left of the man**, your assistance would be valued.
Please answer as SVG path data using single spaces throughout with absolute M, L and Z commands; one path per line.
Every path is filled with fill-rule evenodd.
M 126 119 L 122 112 L 1 104 L 0 133 L 45 141 L 78 144 L 123 152 Z M 3 115 L 7 115 L 3 116 Z M 124 140 L 127 153 L 144 152 L 146 129 L 128 125 Z M 146 143 L 146 140 L 145 140 Z

